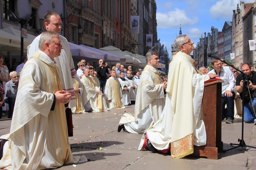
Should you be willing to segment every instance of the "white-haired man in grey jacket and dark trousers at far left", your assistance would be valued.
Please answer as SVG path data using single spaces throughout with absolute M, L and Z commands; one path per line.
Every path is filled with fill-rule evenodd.
M 8 118 L 12 118 L 12 115 L 13 115 L 13 109 L 14 109 L 14 104 L 15 104 L 17 91 L 18 91 L 18 84 L 19 84 L 18 73 L 16 71 L 10 72 L 10 78 L 11 80 L 5 84 L 5 97 L 7 98 L 7 101 L 9 104 Z

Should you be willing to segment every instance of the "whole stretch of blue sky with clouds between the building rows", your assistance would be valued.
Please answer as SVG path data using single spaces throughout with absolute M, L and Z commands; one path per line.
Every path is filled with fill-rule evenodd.
M 232 21 L 237 4 L 240 7 L 240 0 L 156 0 L 157 37 L 171 54 L 181 24 L 182 34 L 187 34 L 196 46 L 201 34 L 211 32 L 212 26 L 222 31 L 225 21 Z

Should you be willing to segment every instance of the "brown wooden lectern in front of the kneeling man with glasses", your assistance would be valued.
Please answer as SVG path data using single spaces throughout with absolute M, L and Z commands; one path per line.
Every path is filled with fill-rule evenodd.
M 202 103 L 207 141 L 204 146 L 194 146 L 194 153 L 191 155 L 218 159 L 218 152 L 223 151 L 221 141 L 222 82 L 224 81 L 217 80 L 204 84 Z

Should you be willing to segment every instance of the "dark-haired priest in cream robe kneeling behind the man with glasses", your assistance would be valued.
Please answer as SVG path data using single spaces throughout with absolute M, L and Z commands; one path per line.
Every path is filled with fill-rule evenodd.
M 167 83 L 162 82 L 156 69 L 159 66 L 158 53 L 147 52 L 146 63 L 137 90 L 134 117 L 125 113 L 119 121 L 118 132 L 125 129 L 129 133 L 144 133 L 160 118 L 165 105 L 164 89 Z

